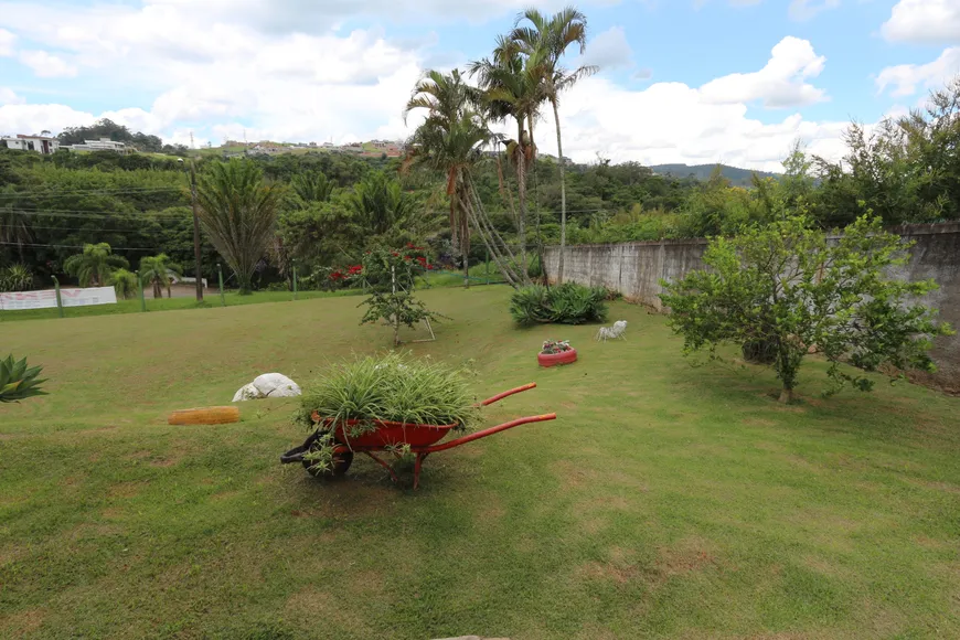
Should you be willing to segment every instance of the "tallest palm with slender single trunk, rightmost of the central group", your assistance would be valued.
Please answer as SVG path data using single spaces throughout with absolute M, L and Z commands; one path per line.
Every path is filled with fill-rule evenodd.
M 531 26 L 520 26 L 524 20 Z M 543 65 L 544 93 L 553 107 L 553 118 L 556 125 L 557 162 L 561 174 L 561 253 L 557 265 L 557 282 L 564 280 L 564 254 L 567 243 L 567 190 L 566 171 L 564 167 L 564 148 L 559 124 L 559 95 L 573 87 L 578 81 L 599 71 L 594 65 L 584 65 L 568 71 L 561 65 L 566 50 L 572 44 L 579 45 L 580 54 L 587 46 L 587 17 L 574 7 L 567 7 L 551 18 L 546 18 L 536 9 L 527 9 L 518 17 L 516 28 L 511 33 L 511 40 L 518 42 L 527 55 L 540 54 Z

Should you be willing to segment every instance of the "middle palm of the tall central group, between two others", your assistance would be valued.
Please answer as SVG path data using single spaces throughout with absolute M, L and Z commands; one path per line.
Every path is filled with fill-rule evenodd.
M 534 162 L 536 147 L 533 125 L 545 100 L 541 53 L 522 55 L 521 47 L 508 38 L 499 38 L 492 57 L 471 62 L 470 75 L 477 76 L 483 89 L 488 114 L 492 119 L 512 117 L 516 122 L 516 140 L 506 145 L 508 157 L 516 170 L 518 242 L 521 263 L 526 269 L 526 172 Z

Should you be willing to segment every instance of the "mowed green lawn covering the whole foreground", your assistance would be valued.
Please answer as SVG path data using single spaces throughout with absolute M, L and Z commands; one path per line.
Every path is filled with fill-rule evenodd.
M 960 637 L 957 398 L 885 383 L 780 406 L 766 370 L 693 367 L 664 319 L 516 330 L 509 289 L 423 292 L 417 354 L 472 360 L 486 424 L 552 423 L 311 479 L 294 401 L 166 424 L 254 376 L 385 348 L 358 299 L 0 326 L 51 395 L 0 407 L 0 638 Z M 423 332 L 406 334 L 422 338 Z M 546 338 L 572 366 L 541 370 Z

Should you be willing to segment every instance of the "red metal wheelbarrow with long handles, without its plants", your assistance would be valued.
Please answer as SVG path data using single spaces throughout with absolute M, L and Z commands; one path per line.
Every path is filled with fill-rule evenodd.
M 513 394 L 529 391 L 535 386 L 535 383 L 530 383 L 499 393 L 493 397 L 487 398 L 478 406 L 486 407 L 487 405 L 491 405 Z M 351 427 L 358 425 L 361 420 L 346 420 L 345 424 L 340 422 L 334 425 L 332 418 L 321 417 L 317 415 L 316 412 L 313 413 L 312 418 L 313 423 L 317 424 L 317 430 L 313 431 L 302 445 L 290 449 L 280 456 L 281 463 L 289 465 L 292 462 L 300 462 L 311 476 L 317 476 L 318 473 L 311 469 L 312 463 L 303 457 L 314 449 L 314 446 L 317 446 L 320 438 L 327 436 L 332 430 L 335 446 L 333 449 L 332 469 L 327 472 L 328 474 L 343 476 L 353 462 L 353 455 L 365 454 L 377 465 L 386 469 L 393 481 L 397 482 L 399 479 L 397 478 L 396 470 L 390 462 L 378 457 L 376 454 L 387 451 L 399 459 L 403 457 L 401 449 L 406 449 L 405 446 L 409 446 L 409 452 L 416 455 L 416 462 L 414 465 L 414 489 L 416 489 L 420 484 L 420 468 L 424 460 L 430 454 L 452 449 L 454 447 L 459 447 L 460 445 L 466 445 L 467 442 L 472 442 L 473 440 L 479 440 L 480 438 L 486 438 L 487 436 L 492 436 L 493 434 L 499 434 L 500 431 L 505 431 L 506 429 L 512 429 L 513 427 L 519 427 L 520 425 L 525 425 L 527 423 L 553 420 L 556 419 L 556 414 L 516 418 L 515 420 L 510 420 L 509 423 L 503 423 L 502 425 L 497 425 L 495 427 L 490 427 L 482 431 L 468 434 L 461 438 L 448 440 L 439 445 L 437 442 L 442 440 L 451 429 L 457 427 L 457 425 L 410 425 L 386 420 L 373 420 L 376 425 L 375 430 L 351 437 L 344 434 L 343 428 L 345 426 Z

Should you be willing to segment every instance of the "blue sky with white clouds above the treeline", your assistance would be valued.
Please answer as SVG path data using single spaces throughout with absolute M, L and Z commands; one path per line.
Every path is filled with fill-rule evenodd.
M 541 0 L 552 11 L 567 0 Z M 0 134 L 108 117 L 168 141 L 403 138 L 424 68 L 487 54 L 531 0 L 0 0 Z M 960 0 L 582 0 L 601 73 L 565 152 L 778 169 L 960 74 Z M 541 125 L 541 147 L 553 126 Z

